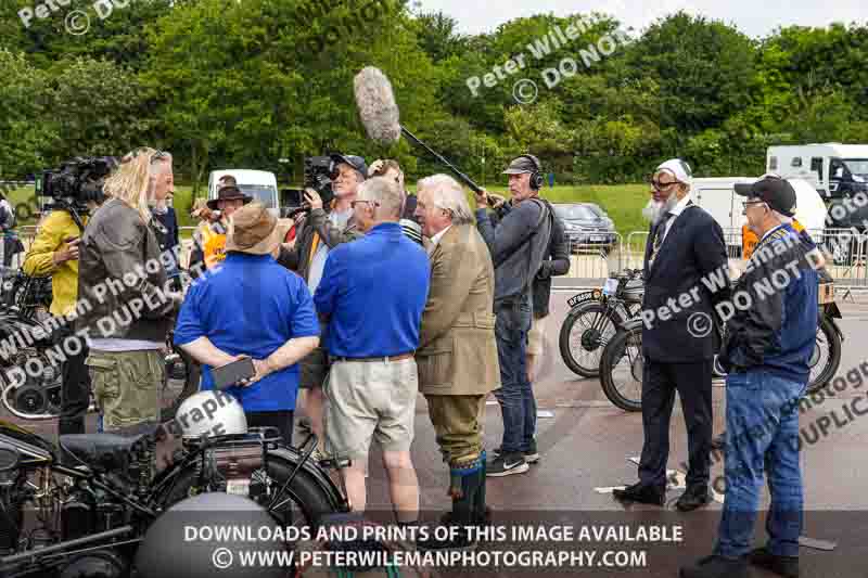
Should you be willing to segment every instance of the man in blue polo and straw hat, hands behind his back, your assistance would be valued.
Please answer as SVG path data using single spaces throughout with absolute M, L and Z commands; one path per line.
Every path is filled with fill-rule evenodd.
M 279 241 L 277 219 L 261 204 L 238 209 L 226 260 L 190 288 L 175 344 L 203 364 L 202 389 L 214 388 L 212 368 L 253 358 L 256 376 L 226 391 L 248 426 L 277 427 L 290 444 L 297 362 L 319 344 L 319 324 L 305 282 L 273 258 Z

